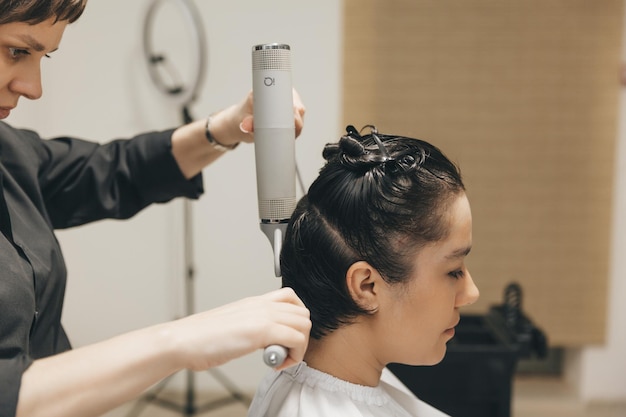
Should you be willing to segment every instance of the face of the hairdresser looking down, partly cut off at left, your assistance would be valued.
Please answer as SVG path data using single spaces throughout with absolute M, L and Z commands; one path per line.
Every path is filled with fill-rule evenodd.
M 56 50 L 66 21 L 0 25 L 0 120 L 9 116 L 21 96 L 41 97 L 41 60 Z

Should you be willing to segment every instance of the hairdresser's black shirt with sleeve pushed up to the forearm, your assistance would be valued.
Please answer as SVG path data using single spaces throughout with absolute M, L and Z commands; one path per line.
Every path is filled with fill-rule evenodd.
M 198 198 L 171 153 L 172 131 L 100 145 L 41 139 L 0 122 L 0 417 L 14 416 L 33 360 L 70 349 L 61 325 L 66 269 L 54 229 L 125 219 Z

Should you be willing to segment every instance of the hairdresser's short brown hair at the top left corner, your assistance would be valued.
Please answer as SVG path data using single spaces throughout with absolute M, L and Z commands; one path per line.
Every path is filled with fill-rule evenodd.
M 50 18 L 73 23 L 83 14 L 87 0 L 0 0 L 0 24 L 41 23 Z

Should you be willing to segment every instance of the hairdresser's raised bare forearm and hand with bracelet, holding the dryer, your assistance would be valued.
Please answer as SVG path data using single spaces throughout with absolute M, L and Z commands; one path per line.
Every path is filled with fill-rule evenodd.
M 305 108 L 296 90 L 293 90 L 294 123 L 296 136 L 303 127 Z M 240 142 L 251 143 L 253 137 L 252 93 L 240 103 L 211 115 L 210 131 L 217 142 L 232 146 Z M 205 136 L 206 119 L 181 126 L 172 135 L 172 153 L 186 178 L 191 178 L 215 161 L 223 151 L 214 148 Z

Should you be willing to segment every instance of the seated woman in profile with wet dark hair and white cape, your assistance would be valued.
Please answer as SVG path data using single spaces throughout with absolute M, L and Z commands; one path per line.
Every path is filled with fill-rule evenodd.
M 304 362 L 271 371 L 249 417 L 443 416 L 385 367 L 434 365 L 478 289 L 472 217 L 455 165 L 433 145 L 348 126 L 299 202 L 283 286 L 311 311 Z

